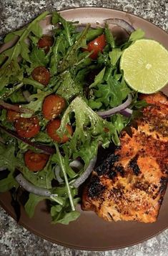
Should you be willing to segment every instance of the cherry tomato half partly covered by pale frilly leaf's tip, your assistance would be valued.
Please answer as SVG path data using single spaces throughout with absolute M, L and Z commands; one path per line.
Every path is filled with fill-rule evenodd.
M 56 130 L 59 129 L 60 124 L 61 121 L 59 119 L 51 120 L 46 126 L 46 132 L 49 134 L 49 137 L 51 137 L 51 139 L 53 139 L 55 142 L 65 143 L 69 140 L 69 137 L 64 134 L 63 137 L 60 138 L 59 135 L 56 134 Z M 69 124 L 66 124 L 66 130 L 69 135 L 72 135 L 73 130 Z

